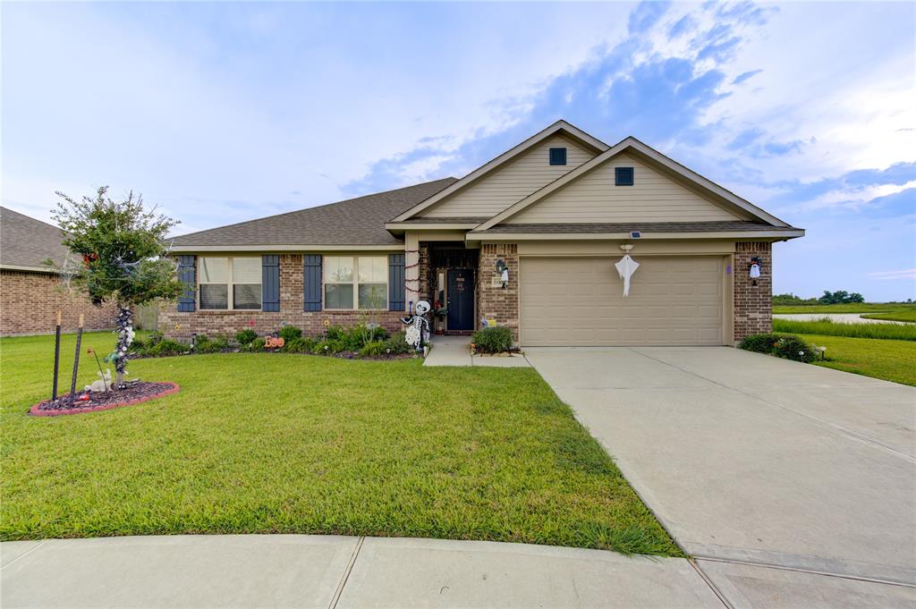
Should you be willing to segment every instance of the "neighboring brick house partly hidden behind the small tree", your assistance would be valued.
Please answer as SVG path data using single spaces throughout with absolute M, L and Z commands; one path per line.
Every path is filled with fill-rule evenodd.
M 64 236 L 57 226 L 0 207 L 0 336 L 54 332 L 59 310 L 63 332 L 75 331 L 81 314 L 87 330 L 114 328 L 113 306 L 93 306 L 45 266 L 66 260 Z

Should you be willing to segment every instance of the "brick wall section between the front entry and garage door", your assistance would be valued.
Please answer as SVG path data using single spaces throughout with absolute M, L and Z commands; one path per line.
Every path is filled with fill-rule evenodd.
M 509 269 L 507 288 L 496 285 L 496 260 L 502 258 Z M 494 319 L 506 326 L 518 343 L 518 245 L 484 244 L 477 266 L 477 317 Z

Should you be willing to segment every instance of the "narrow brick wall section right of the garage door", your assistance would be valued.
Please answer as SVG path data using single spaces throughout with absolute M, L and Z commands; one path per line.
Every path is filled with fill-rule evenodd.
M 760 277 L 751 279 L 750 259 L 760 258 Z M 773 330 L 772 245 L 757 241 L 735 244 L 735 341 Z M 755 285 L 756 284 L 756 285 Z

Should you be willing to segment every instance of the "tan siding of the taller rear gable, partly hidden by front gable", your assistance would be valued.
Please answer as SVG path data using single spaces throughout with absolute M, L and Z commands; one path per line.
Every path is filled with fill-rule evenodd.
M 548 148 L 551 147 L 566 148 L 566 165 L 549 164 Z M 453 197 L 421 212 L 420 217 L 495 215 L 594 156 L 595 154 L 587 148 L 573 143 L 572 139 L 563 136 L 549 137 L 506 166 L 496 169 L 491 175 L 484 176 L 476 183 L 456 192 Z

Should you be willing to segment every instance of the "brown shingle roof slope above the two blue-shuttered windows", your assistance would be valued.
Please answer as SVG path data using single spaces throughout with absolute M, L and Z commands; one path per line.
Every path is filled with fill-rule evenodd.
M 277 249 L 304 245 L 403 245 L 385 230 L 385 223 L 405 210 L 448 187 L 454 178 L 436 179 L 398 190 L 357 197 L 299 212 L 229 224 L 198 233 L 183 234 L 172 241 L 176 251 L 195 247 Z

